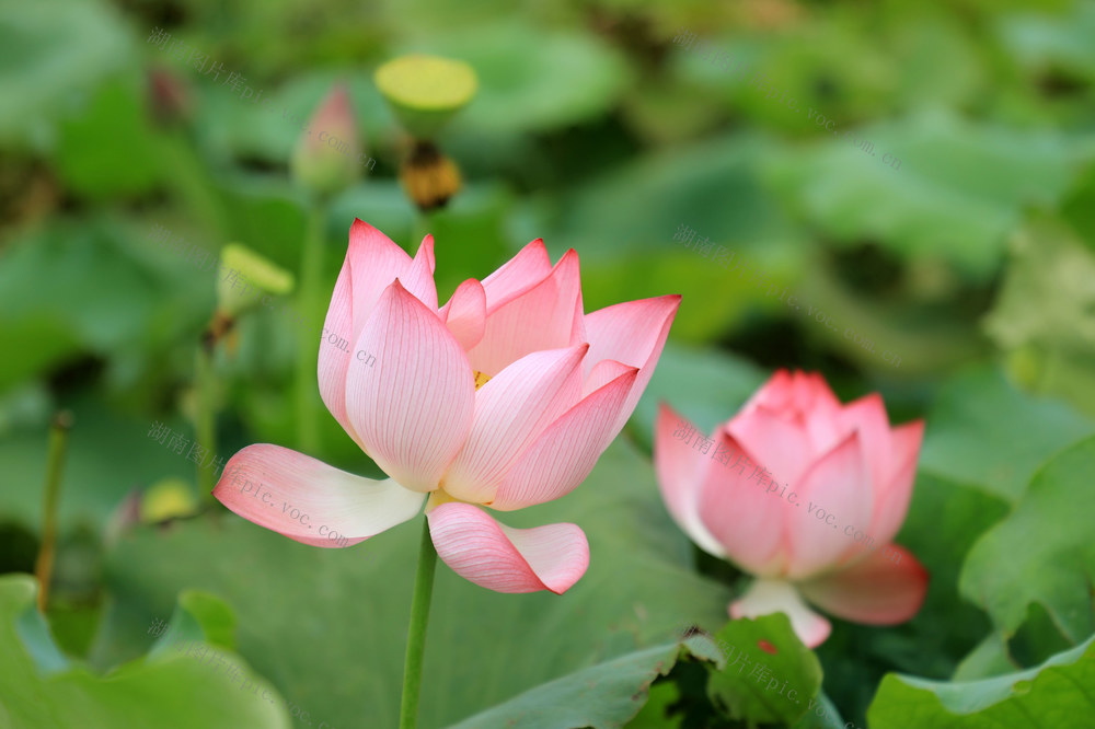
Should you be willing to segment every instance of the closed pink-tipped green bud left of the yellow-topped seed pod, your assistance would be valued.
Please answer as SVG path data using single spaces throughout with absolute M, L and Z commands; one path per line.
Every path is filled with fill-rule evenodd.
M 338 85 L 300 132 L 290 164 L 292 177 L 320 195 L 334 195 L 361 174 L 364 158 L 349 94 Z

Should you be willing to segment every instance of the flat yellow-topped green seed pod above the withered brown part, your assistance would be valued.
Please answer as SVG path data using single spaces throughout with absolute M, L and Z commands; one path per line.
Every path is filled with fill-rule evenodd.
M 471 66 L 438 56 L 401 56 L 378 68 L 373 80 L 400 123 L 418 140 L 433 139 L 479 88 Z

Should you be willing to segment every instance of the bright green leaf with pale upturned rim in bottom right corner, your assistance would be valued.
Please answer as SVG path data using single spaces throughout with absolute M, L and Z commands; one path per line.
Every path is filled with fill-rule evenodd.
M 867 717 L 871 729 L 1084 729 L 1095 716 L 1095 638 L 1018 673 L 946 683 L 886 676 Z

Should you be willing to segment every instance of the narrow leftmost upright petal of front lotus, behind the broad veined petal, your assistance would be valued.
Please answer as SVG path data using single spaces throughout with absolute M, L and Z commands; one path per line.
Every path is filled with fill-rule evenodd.
M 354 342 L 351 288 L 349 263 L 345 261 L 342 270 L 338 271 L 334 293 L 331 294 L 327 316 L 323 322 L 324 331 L 320 335 L 323 338 L 320 342 L 316 375 L 323 404 L 327 406 L 327 410 L 343 427 L 343 430 L 364 450 L 361 438 L 354 430 L 354 425 L 346 415 L 346 372 L 353 357 L 353 352 L 349 351 L 349 343 Z M 332 335 L 334 335 L 334 342 L 330 339 Z M 345 340 L 346 344 L 341 344 L 342 340 Z

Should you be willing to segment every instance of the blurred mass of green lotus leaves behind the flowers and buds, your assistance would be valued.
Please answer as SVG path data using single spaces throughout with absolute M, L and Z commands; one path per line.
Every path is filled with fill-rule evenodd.
M 150 43 L 159 31 L 163 47 Z M 148 437 L 153 423 L 194 436 L 194 351 L 216 309 L 215 275 L 149 231 L 211 255 L 239 241 L 297 271 L 311 208 L 289 160 L 300 120 L 339 81 L 377 163 L 326 210 L 324 306 L 355 217 L 411 253 L 433 233 L 442 301 L 534 238 L 556 259 L 578 251 L 587 311 L 683 294 L 625 437 L 581 489 L 507 522 L 579 523 L 593 554 L 584 580 L 561 599 L 499 595 L 439 570 L 424 726 L 656 645 L 683 618 L 725 623 L 735 570 L 700 558 L 666 516 L 648 460 L 654 413 L 665 400 L 711 428 L 777 367 L 820 370 L 844 400 L 880 391 L 894 421 L 927 419 L 898 541 L 931 570 L 929 600 L 892 628 L 837 621 L 817 651 L 835 710 L 864 726 L 888 671 L 968 681 L 1065 650 L 1095 660 L 1075 658 L 1095 629 L 1095 450 L 1081 442 L 1095 432 L 1093 37 L 1095 3 L 1081 0 L 0 0 L 3 571 L 34 570 L 48 425 L 61 408 L 76 418 L 53 638 L 20 633 L 0 674 L 53 651 L 54 671 L 125 663 L 136 691 L 168 704 L 180 691 L 215 696 L 223 716 L 245 717 L 231 726 L 302 721 L 193 667 L 143 663 L 148 624 L 173 610 L 182 621 L 180 594 L 199 589 L 234 614 L 230 660 L 312 725 L 394 725 L 415 529 L 306 547 L 203 507 L 195 465 Z M 222 65 L 217 80 L 192 50 Z M 752 62 L 798 111 L 712 51 Z M 462 59 L 480 81 L 438 140 L 464 187 L 428 213 L 397 182 L 410 139 L 372 82 L 406 53 Z M 270 103 L 242 101 L 229 73 Z M 681 225 L 804 309 L 685 248 Z M 301 338 L 318 348 L 322 312 L 304 320 L 260 309 L 216 351 L 219 455 L 299 447 L 293 352 Z M 379 474 L 320 419 L 311 455 Z M 1040 539 L 1050 546 L 1031 553 Z M 1022 569 L 1000 570 L 1013 563 Z M 9 640 L 34 590 L 0 583 Z M 194 635 L 216 644 L 212 633 Z M 122 726 L 112 711 L 128 699 L 89 675 L 53 688 L 0 679 L 0 705 L 11 692 L 43 703 L 80 692 L 102 705 L 85 726 Z M 887 679 L 872 727 L 912 726 L 901 721 L 935 701 L 900 681 Z M 940 693 L 919 716 L 960 713 Z M 1052 703 L 1035 694 L 1022 698 L 1031 710 Z M 652 706 L 672 703 L 654 695 Z M 28 721 L 20 706 L 10 716 Z M 215 726 L 192 706 L 177 726 Z

